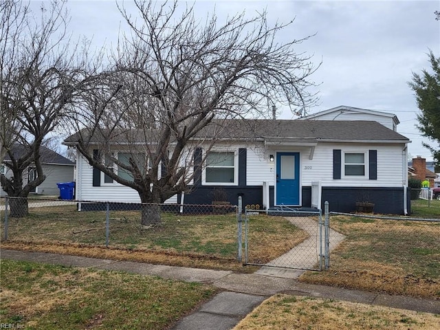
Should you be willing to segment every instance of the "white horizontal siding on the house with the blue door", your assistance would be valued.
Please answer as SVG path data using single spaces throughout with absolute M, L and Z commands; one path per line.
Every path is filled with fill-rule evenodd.
M 322 186 L 353 186 L 353 187 L 401 187 L 406 181 L 406 168 L 402 157 L 404 157 L 405 144 L 355 144 L 355 143 L 319 143 L 314 149 L 313 159 L 310 159 L 310 147 L 292 146 L 292 147 L 278 147 L 278 148 L 264 148 L 263 144 L 246 145 L 244 143 L 228 144 L 223 147 L 219 146 L 222 151 L 234 151 L 234 170 L 238 170 L 238 151 L 239 148 L 246 148 L 246 185 L 247 186 L 262 186 L 263 181 L 267 181 L 270 186 L 274 186 L 275 181 L 275 166 L 276 162 L 270 162 L 269 156 L 276 155 L 277 151 L 289 151 L 300 153 L 300 184 L 301 186 L 311 186 L 312 181 L 321 181 Z M 364 177 L 350 177 L 344 176 L 342 170 L 341 179 L 333 179 L 333 149 L 340 149 L 342 151 L 342 158 L 344 153 L 364 153 L 365 155 L 365 176 Z M 194 150 L 194 149 L 191 149 Z M 369 179 L 369 150 L 377 151 L 377 179 Z M 188 157 L 185 157 L 188 156 Z M 184 154 L 181 159 L 181 164 L 190 162 L 192 157 Z M 107 186 L 94 187 L 92 186 L 92 168 L 83 157 L 80 158 L 80 165 L 83 168 L 80 170 L 78 166 L 78 184 L 82 186 L 81 196 L 82 200 L 88 201 L 127 201 L 139 202 L 139 195 L 137 192 L 129 187 L 120 184 L 112 184 Z M 342 166 L 344 159 L 342 160 Z M 192 167 L 188 169 L 192 172 Z M 202 181 L 203 181 L 202 171 Z M 238 182 L 238 173 L 234 180 Z M 231 185 L 228 183 L 228 185 Z M 77 195 L 78 196 L 78 195 Z M 177 196 L 168 199 L 167 202 L 176 202 Z

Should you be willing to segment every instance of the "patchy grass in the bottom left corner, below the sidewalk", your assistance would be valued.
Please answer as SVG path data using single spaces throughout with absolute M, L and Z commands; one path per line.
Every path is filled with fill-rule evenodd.
M 1 322 L 23 329 L 168 329 L 217 293 L 121 272 L 1 261 Z

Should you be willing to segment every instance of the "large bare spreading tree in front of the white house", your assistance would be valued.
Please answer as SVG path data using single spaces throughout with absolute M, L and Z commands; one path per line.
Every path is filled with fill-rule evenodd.
M 137 190 L 142 203 L 190 188 L 206 160 L 197 150 L 224 137 L 223 121 L 272 115 L 268 99 L 292 109 L 316 101 L 307 91 L 316 68 L 295 50 L 309 37 L 277 39 L 292 22 L 271 27 L 265 12 L 201 21 L 177 1 L 135 5 L 140 19 L 120 8 L 130 32 L 65 143 L 109 180 Z M 142 224 L 160 221 L 157 206 L 142 210 Z

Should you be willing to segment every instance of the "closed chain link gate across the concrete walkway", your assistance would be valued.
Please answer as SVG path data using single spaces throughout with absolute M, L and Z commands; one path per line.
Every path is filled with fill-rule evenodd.
M 329 217 L 321 210 L 245 210 L 244 264 L 322 270 L 329 266 Z M 270 225 L 266 221 L 271 221 Z M 241 222 L 241 223 L 243 223 Z

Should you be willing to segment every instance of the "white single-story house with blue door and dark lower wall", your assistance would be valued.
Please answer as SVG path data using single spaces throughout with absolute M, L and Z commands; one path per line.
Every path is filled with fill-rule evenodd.
M 357 117 L 347 118 L 348 113 Z M 397 123 L 395 115 L 351 107 L 300 120 L 229 120 L 206 157 L 221 162 L 195 166 L 192 191 L 184 201 L 179 194 L 168 202 L 211 203 L 210 192 L 221 187 L 231 203 L 241 195 L 243 205 L 261 208 L 324 208 L 329 201 L 330 210 L 353 212 L 357 201 L 370 201 L 375 212 L 407 214 L 410 141 L 395 131 Z M 196 138 L 209 139 L 215 129 L 214 123 Z M 63 143 L 75 146 L 75 139 L 72 135 Z M 98 153 L 98 144 L 91 148 Z M 205 153 L 199 146 L 186 166 L 198 164 Z M 135 190 L 106 181 L 79 153 L 76 192 L 84 201 L 140 201 Z

